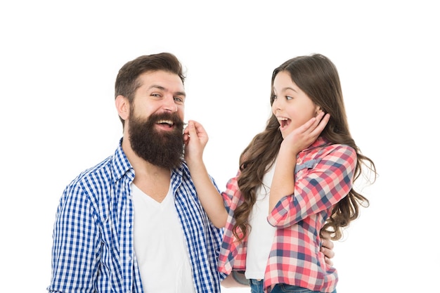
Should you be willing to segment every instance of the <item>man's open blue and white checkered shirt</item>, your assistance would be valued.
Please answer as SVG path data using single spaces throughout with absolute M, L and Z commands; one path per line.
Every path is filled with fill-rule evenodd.
M 133 180 L 134 169 L 119 142 L 114 155 L 67 185 L 53 228 L 48 292 L 143 292 L 134 254 Z M 186 163 L 172 171 L 171 184 L 195 292 L 220 292 L 225 275 L 217 271 L 217 258 L 223 231 L 202 209 Z

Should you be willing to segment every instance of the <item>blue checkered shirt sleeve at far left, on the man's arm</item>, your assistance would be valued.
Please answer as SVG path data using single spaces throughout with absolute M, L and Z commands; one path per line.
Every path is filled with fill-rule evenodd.
M 94 214 L 79 184 L 65 189 L 53 227 L 52 278 L 48 292 L 93 292 L 99 257 Z

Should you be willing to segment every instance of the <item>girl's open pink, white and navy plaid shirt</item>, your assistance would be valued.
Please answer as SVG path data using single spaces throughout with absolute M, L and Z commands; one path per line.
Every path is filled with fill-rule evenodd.
M 356 152 L 348 145 L 330 144 L 323 138 L 299 152 L 295 168 L 295 193 L 283 197 L 268 215 L 276 227 L 264 275 L 264 288 L 285 283 L 320 292 L 332 292 L 337 271 L 325 263 L 319 251 L 319 231 L 332 207 L 349 193 L 356 167 Z M 239 175 L 239 174 L 238 174 Z M 222 193 L 228 207 L 228 221 L 219 256 L 219 271 L 245 271 L 247 237 L 234 237 L 233 211 L 243 199 L 237 178 L 231 178 Z

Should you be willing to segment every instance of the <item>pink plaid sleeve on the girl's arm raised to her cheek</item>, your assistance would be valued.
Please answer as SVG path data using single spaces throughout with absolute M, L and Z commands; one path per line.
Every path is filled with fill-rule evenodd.
M 348 145 L 331 145 L 321 154 L 297 165 L 294 194 L 282 197 L 268 215 L 271 226 L 292 226 L 330 209 L 349 193 L 356 167 L 355 150 Z

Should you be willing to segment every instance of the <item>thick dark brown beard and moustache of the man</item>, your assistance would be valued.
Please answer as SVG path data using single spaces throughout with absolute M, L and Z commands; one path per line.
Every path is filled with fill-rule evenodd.
M 156 131 L 157 121 L 174 122 L 171 132 Z M 151 115 L 147 120 L 130 113 L 129 140 L 136 155 L 155 166 L 174 169 L 183 160 L 183 121 L 174 113 Z

